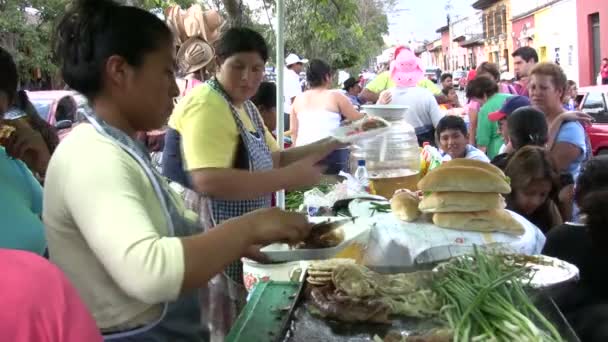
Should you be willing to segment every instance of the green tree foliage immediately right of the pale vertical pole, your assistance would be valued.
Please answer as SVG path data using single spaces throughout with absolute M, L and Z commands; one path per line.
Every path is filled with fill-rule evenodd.
M 359 71 L 377 56 L 394 0 L 284 0 L 285 52 L 320 58 L 335 69 Z M 276 14 L 274 2 L 267 1 Z M 274 45 L 274 32 L 266 25 Z M 275 28 L 276 29 L 276 28 Z

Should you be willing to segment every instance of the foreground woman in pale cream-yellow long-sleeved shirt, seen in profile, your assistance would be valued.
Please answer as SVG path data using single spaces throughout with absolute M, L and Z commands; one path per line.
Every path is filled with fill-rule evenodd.
M 262 210 L 200 233 L 134 139 L 166 122 L 178 94 L 173 37 L 154 14 L 80 0 L 63 16 L 56 42 L 63 78 L 92 108 L 84 113 L 89 124 L 70 133 L 48 167 L 51 260 L 106 340 L 206 340 L 196 290 L 258 254 L 255 246 L 301 240 L 310 225 L 302 215 Z

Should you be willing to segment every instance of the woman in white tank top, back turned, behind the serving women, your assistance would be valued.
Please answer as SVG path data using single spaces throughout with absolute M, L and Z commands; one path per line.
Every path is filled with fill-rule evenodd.
M 331 67 L 318 59 L 310 62 L 306 80 L 310 89 L 296 97 L 291 108 L 290 126 L 294 146 L 308 145 L 331 136 L 343 120 L 363 117 L 341 92 L 331 90 Z M 327 174 L 348 172 L 347 148 L 332 152 L 323 162 Z

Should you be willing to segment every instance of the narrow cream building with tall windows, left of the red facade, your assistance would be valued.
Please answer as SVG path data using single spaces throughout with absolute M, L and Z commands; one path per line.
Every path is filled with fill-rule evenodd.
M 513 40 L 511 39 L 511 2 L 508 0 L 478 0 L 473 8 L 483 11 L 482 26 L 485 55 L 501 71 L 513 70 Z

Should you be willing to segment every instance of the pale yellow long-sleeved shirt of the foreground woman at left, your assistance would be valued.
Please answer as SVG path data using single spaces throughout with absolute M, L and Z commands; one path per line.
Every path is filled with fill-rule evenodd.
M 175 193 L 174 200 L 192 215 Z M 53 154 L 43 220 L 51 261 L 76 286 L 100 329 L 150 322 L 159 303 L 178 297 L 183 247 L 167 236 L 152 184 L 131 156 L 89 124 L 74 128 Z

